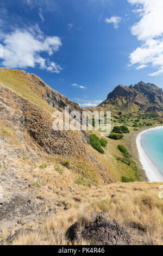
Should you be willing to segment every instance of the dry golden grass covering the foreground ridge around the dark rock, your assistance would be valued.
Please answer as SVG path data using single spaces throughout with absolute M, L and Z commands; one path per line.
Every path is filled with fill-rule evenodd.
M 17 164 L 22 163 L 18 161 Z M 72 170 L 60 168 L 64 170 L 63 174 L 55 170 L 54 165 L 44 169 L 30 166 L 28 172 L 23 169 L 17 171 L 17 176 L 29 181 L 37 182 L 40 179 L 40 187 L 32 187 L 32 190 L 40 198 L 48 199 L 47 208 L 54 198 L 66 203 L 68 208 L 64 210 L 61 207 L 50 217 L 24 224 L 23 229 L 33 231 L 28 233 L 24 230 L 12 242 L 13 245 L 70 245 L 65 237 L 67 228 L 76 221 L 89 223 L 96 212 L 104 212 L 109 220 L 115 218 L 127 227 L 134 235 L 136 245 L 163 244 L 163 200 L 159 198 L 159 186 L 162 184 L 134 182 L 86 187 L 76 184 L 76 175 Z M 117 194 L 117 197 L 111 198 L 112 194 Z M 78 244 L 86 245 L 89 242 L 80 241 Z

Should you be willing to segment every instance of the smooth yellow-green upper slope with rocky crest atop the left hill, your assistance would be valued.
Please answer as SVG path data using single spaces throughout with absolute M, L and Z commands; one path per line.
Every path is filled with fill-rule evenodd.
M 0 81 L 5 87 L 14 90 L 49 112 L 53 113 L 54 108 L 64 109 L 65 106 L 70 107 L 71 111 L 82 111 L 77 103 L 68 100 L 67 97 L 49 87 L 40 77 L 24 70 L 0 68 Z

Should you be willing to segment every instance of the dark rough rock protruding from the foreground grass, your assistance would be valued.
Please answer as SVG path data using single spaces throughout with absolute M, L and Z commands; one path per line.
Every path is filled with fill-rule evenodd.
M 84 239 L 91 245 L 131 245 L 132 238 L 127 229 L 113 220 L 105 220 L 102 214 L 97 214 L 95 219 L 85 224 L 82 228 L 76 222 L 67 229 L 66 236 L 71 242 Z

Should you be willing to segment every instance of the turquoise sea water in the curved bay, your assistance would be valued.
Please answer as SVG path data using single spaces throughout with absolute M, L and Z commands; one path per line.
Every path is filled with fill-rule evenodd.
M 163 128 L 143 133 L 141 145 L 155 167 L 163 175 Z

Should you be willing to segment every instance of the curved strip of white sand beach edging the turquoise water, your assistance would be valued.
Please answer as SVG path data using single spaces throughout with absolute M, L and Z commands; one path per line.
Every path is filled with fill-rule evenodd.
M 139 153 L 139 160 L 141 162 L 142 168 L 145 170 L 145 173 L 147 175 L 149 182 L 162 182 L 163 176 L 161 175 L 158 168 L 155 167 L 152 160 L 145 153 L 145 150 L 143 149 L 143 147 L 141 145 L 141 138 L 142 138 L 142 135 L 148 131 L 159 130 L 162 128 L 163 128 L 163 126 L 156 126 L 156 127 L 144 130 L 144 131 L 140 132 L 136 137 L 136 145 L 137 145 L 137 150 Z

